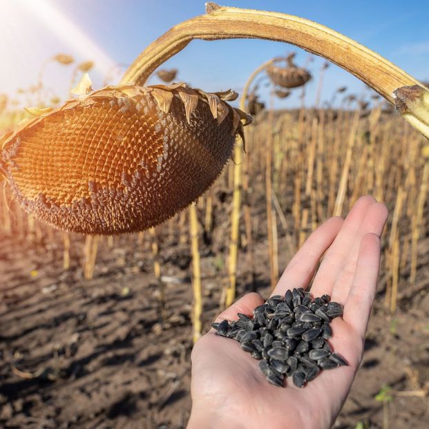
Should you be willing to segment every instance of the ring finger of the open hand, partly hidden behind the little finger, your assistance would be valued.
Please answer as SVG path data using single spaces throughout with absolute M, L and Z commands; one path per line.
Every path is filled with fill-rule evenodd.
M 354 238 L 352 248 L 349 249 L 347 258 L 343 262 L 343 267 L 336 277 L 334 288 L 332 289 L 332 299 L 334 301 L 345 303 L 347 299 L 350 287 L 352 287 L 356 263 L 359 256 L 359 248 L 363 236 L 368 233 L 381 236 L 387 218 L 388 209 L 384 204 L 376 202 L 368 208 L 361 228 Z

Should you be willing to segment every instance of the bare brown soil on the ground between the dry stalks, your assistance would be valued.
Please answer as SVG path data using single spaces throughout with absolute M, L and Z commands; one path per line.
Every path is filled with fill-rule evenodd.
M 226 278 L 225 228 L 215 225 L 212 236 L 202 240 L 204 332 L 218 312 Z M 162 311 L 148 240 L 149 234 L 143 245 L 137 236 L 121 236 L 113 247 L 103 240 L 94 278 L 84 280 L 82 237 L 71 236 L 67 271 L 61 233 L 50 240 L 42 234 L 32 244 L 17 234 L 1 237 L 1 427 L 186 426 L 191 408 L 189 245 L 180 244 L 174 228 L 162 229 L 162 274 L 168 280 Z M 267 297 L 264 233 L 257 234 L 255 252 L 255 287 Z M 241 249 L 239 295 L 252 288 L 248 267 Z M 391 429 L 428 427 L 428 398 L 419 396 L 429 386 L 428 267 L 426 237 L 419 242 L 416 285 L 407 284 L 408 265 L 401 271 L 394 316 L 385 309 L 381 275 L 363 363 L 335 428 L 383 428 L 383 415 Z M 383 404 L 375 398 L 384 385 L 394 392 Z

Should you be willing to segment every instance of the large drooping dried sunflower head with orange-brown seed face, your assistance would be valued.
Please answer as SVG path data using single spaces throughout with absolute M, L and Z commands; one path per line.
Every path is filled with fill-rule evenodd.
M 218 177 L 249 120 L 227 104 L 233 91 L 88 89 L 1 139 L 1 169 L 17 200 L 68 231 L 111 235 L 170 218 Z

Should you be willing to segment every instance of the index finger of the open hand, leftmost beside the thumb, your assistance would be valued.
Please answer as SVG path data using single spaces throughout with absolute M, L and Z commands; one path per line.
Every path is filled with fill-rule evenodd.
M 328 219 L 310 234 L 287 265 L 271 295 L 283 295 L 287 289 L 294 287 L 307 287 L 318 261 L 334 241 L 341 225 L 343 225 L 343 218 L 336 216 Z

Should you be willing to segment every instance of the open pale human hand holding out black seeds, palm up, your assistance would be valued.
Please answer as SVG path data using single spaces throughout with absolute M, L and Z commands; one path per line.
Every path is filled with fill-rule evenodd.
M 360 198 L 343 221 L 330 218 L 309 236 L 292 258 L 272 295 L 306 288 L 321 256 L 326 254 L 312 283 L 314 297 L 328 294 L 344 305 L 343 318 L 332 321 L 330 343 L 348 366 L 323 371 L 305 388 L 287 379 L 286 388 L 271 385 L 258 361 L 240 344 L 212 329 L 193 347 L 188 429 L 330 428 L 352 386 L 363 355 L 365 331 L 374 301 L 380 263 L 380 236 L 388 212 L 383 204 Z M 216 321 L 252 316 L 262 304 L 259 294 L 243 296 Z

